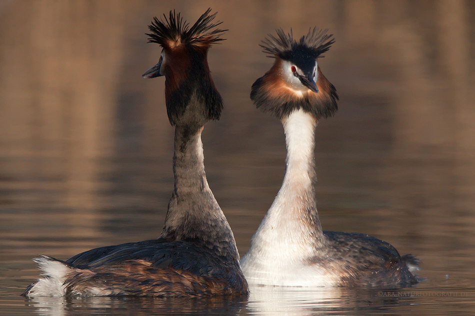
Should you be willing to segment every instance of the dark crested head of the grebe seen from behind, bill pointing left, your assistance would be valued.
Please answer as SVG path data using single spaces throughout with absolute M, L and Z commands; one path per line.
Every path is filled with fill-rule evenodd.
M 189 27 L 180 13 L 170 11 L 167 18 L 156 17 L 148 26 L 148 42 L 163 49 L 158 63 L 145 71 L 143 78 L 165 76 L 165 101 L 168 119 L 172 125 L 204 125 L 219 119 L 222 99 L 211 78 L 207 52 L 220 38 L 223 29 L 215 28 L 222 22 L 212 23 L 216 13 L 206 10 Z

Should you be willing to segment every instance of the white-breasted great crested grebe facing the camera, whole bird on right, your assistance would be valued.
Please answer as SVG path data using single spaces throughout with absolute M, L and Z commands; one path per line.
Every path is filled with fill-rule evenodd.
M 338 96 L 317 58 L 333 42 L 326 30 L 316 28 L 298 41 L 277 29 L 277 36 L 262 42 L 275 61 L 254 82 L 250 98 L 282 122 L 287 158 L 282 186 L 241 259 L 249 284 L 404 287 L 418 282 L 413 256 L 401 257 L 368 235 L 321 229 L 313 187 L 314 132 L 321 117 L 336 112 Z

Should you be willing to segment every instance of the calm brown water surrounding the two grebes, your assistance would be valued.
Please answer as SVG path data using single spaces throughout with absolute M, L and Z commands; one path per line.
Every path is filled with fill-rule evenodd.
M 325 230 L 360 232 L 422 261 L 399 291 L 252 288 L 246 301 L 20 297 L 37 254 L 156 238 L 173 185 L 159 56 L 143 34 L 211 6 L 224 99 L 203 133 L 208 182 L 241 256 L 284 173 L 280 123 L 250 85 L 277 27 L 329 28 L 319 66 L 340 96 L 319 122 Z M 475 5 L 471 1 L 0 2 L 0 315 L 468 315 L 475 311 Z M 297 35 L 297 36 L 298 36 Z

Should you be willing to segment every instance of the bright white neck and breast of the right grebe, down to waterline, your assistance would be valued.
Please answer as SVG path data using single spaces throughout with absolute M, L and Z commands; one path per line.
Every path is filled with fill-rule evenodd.
M 287 143 L 285 177 L 252 237 L 241 268 L 249 284 L 333 284 L 334 280 L 321 279 L 320 272 L 315 273 L 306 263 L 324 243 L 313 189 L 317 121 L 312 114 L 296 110 L 283 118 L 282 124 Z

